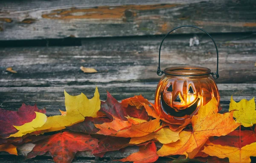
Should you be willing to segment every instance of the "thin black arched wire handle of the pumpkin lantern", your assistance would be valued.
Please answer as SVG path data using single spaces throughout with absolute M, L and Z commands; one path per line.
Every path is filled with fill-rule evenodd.
M 212 39 L 212 41 L 213 41 L 213 43 L 215 45 L 215 48 L 216 48 L 216 52 L 217 52 L 217 70 L 216 70 L 216 73 L 211 72 L 210 74 L 212 75 L 212 77 L 214 79 L 218 79 L 218 77 L 219 77 L 219 74 L 218 74 L 218 48 L 217 48 L 217 45 L 216 45 L 215 41 L 213 40 L 213 38 L 210 36 L 209 33 L 207 33 L 207 31 L 205 31 L 204 29 L 199 28 L 198 26 L 189 26 L 189 25 L 188 26 L 179 26 L 179 27 L 177 27 L 175 29 L 179 29 L 179 28 L 182 28 L 182 27 L 193 27 L 193 28 L 196 28 L 196 29 L 200 29 L 201 31 L 204 31 L 204 33 L 208 34 L 208 36 Z M 172 31 L 174 31 L 175 29 L 172 29 Z M 169 31 L 168 34 L 170 34 L 172 31 Z M 165 37 L 163 38 L 163 40 L 162 40 L 162 42 L 160 44 L 160 48 L 159 48 L 159 60 L 158 60 L 158 67 L 157 67 L 157 75 L 159 75 L 159 76 L 161 76 L 162 74 L 166 74 L 164 71 L 162 71 L 160 69 L 160 53 L 161 53 L 161 47 L 162 47 L 163 41 L 168 36 L 168 34 L 166 34 Z M 216 75 L 216 77 L 214 75 Z M 193 75 L 189 75 L 189 76 L 193 76 Z

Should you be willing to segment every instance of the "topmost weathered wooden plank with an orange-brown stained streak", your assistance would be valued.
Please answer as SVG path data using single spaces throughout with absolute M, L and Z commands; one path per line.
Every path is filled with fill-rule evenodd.
M 0 40 L 166 34 L 187 24 L 209 32 L 255 31 L 255 6 L 255 0 L 4 0 Z M 191 32 L 198 31 L 176 31 Z

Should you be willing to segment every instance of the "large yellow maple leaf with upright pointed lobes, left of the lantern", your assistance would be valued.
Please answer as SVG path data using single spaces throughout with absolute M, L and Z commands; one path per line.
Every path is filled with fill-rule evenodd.
M 36 128 L 37 131 L 45 130 L 45 132 L 58 131 L 65 129 L 66 126 L 84 121 L 84 117 L 97 117 L 100 109 L 99 92 L 96 87 L 94 97 L 88 99 L 83 93 L 78 96 L 71 96 L 64 91 L 66 113 L 47 117 L 44 126 Z

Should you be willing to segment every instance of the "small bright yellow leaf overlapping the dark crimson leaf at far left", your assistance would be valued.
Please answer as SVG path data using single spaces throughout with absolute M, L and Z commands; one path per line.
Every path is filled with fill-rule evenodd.
M 25 134 L 37 131 L 35 128 L 41 127 L 47 121 L 47 116 L 40 112 L 35 112 L 36 117 L 31 122 L 25 123 L 21 126 L 14 126 L 18 132 L 11 134 L 9 137 L 22 137 Z

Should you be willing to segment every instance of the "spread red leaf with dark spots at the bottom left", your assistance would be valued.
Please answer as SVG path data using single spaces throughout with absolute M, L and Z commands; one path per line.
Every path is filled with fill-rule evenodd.
M 98 140 L 88 134 L 63 132 L 51 135 L 35 144 L 32 151 L 27 154 L 27 158 L 49 152 L 55 163 L 71 163 L 76 152 L 92 151 L 98 145 Z

